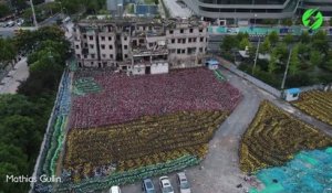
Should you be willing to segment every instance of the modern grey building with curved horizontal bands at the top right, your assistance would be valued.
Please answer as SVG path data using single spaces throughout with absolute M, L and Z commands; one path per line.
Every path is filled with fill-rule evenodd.
M 286 19 L 310 8 L 332 17 L 331 0 L 183 0 L 207 19 Z

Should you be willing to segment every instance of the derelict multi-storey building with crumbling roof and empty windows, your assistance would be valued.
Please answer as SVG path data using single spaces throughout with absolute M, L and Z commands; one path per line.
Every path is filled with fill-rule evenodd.
M 133 74 L 200 66 L 207 41 L 207 24 L 197 19 L 85 20 L 74 28 L 77 66 Z

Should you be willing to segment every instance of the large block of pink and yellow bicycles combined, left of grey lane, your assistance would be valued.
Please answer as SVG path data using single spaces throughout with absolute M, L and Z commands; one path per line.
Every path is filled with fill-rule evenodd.
M 242 98 L 238 89 L 203 67 L 129 77 L 80 72 L 75 77 L 75 83 L 84 84 L 80 90 L 90 90 L 92 84 L 85 84 L 86 76 L 102 90 L 81 92 L 73 99 L 65 169 L 73 171 L 74 181 L 110 174 L 115 165 L 120 175 L 125 175 L 121 181 L 116 179 L 122 183 L 127 182 L 128 169 L 144 170 L 143 178 L 151 172 L 142 167 L 170 164 L 186 156 L 198 161 L 206 154 L 216 128 Z M 173 168 L 183 169 L 194 162 L 183 163 Z M 173 168 L 165 167 L 160 172 L 169 173 L 175 171 Z M 107 176 L 111 181 L 117 178 L 116 173 Z

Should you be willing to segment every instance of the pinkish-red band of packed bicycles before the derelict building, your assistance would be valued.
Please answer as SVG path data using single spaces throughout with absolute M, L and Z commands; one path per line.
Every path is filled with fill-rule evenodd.
M 80 77 L 86 77 L 76 76 L 80 82 Z M 179 110 L 229 112 L 241 98 L 238 89 L 219 82 L 206 68 L 131 77 L 111 73 L 90 76 L 102 92 L 73 98 L 71 128 L 108 126 Z

